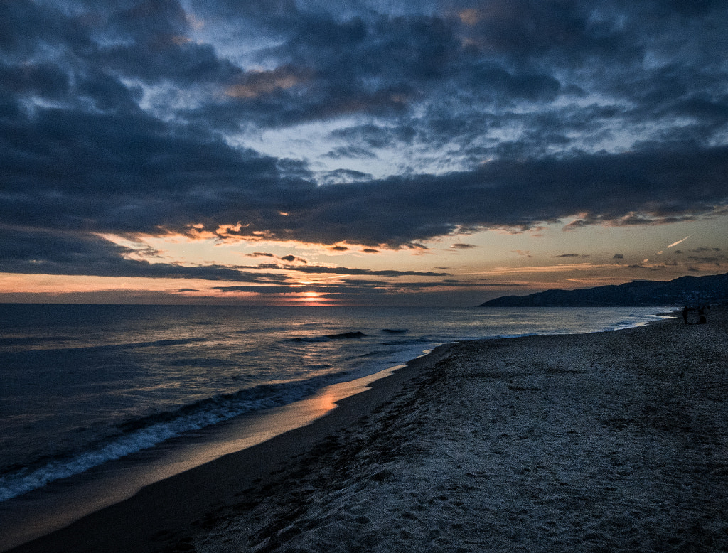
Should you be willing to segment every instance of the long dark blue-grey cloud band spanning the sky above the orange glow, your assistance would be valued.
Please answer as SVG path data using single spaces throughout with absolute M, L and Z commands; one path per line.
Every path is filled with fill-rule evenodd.
M 463 226 L 531 228 L 577 213 L 580 226 L 665 223 L 728 203 L 728 148 L 502 160 L 442 176 L 315 186 L 287 177 L 275 159 L 145 122 L 58 111 L 24 128 L 16 122 L 21 132 L 3 137 L 2 220 L 149 234 L 240 222 L 221 238 L 258 232 L 401 247 Z M 121 143 L 124 155 L 114 149 Z

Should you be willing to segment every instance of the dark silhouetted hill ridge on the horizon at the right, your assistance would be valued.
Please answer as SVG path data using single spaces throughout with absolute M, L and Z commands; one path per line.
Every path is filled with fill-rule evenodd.
M 728 273 L 681 276 L 669 282 L 635 280 L 623 285 L 582 290 L 546 290 L 529 295 L 505 295 L 480 307 L 682 306 L 728 301 Z

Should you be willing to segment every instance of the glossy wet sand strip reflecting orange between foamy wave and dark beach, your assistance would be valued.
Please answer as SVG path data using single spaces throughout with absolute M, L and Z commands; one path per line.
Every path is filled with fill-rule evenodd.
M 432 350 L 416 357 L 427 357 Z M 0 552 L 61 530 L 102 509 L 126 501 L 143 488 L 239 453 L 307 426 L 347 397 L 368 390 L 406 365 L 395 365 L 351 381 L 330 384 L 304 399 L 258 413 L 240 415 L 190 431 L 162 444 L 0 503 Z

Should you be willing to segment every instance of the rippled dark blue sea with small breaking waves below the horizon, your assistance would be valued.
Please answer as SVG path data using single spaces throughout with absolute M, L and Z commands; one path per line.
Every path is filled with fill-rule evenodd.
M 0 304 L 0 501 L 438 343 L 614 330 L 661 311 Z

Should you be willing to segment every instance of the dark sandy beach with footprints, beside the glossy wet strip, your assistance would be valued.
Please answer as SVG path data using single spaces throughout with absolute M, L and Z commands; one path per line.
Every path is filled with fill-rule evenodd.
M 728 551 L 728 321 L 444 346 L 23 551 Z

